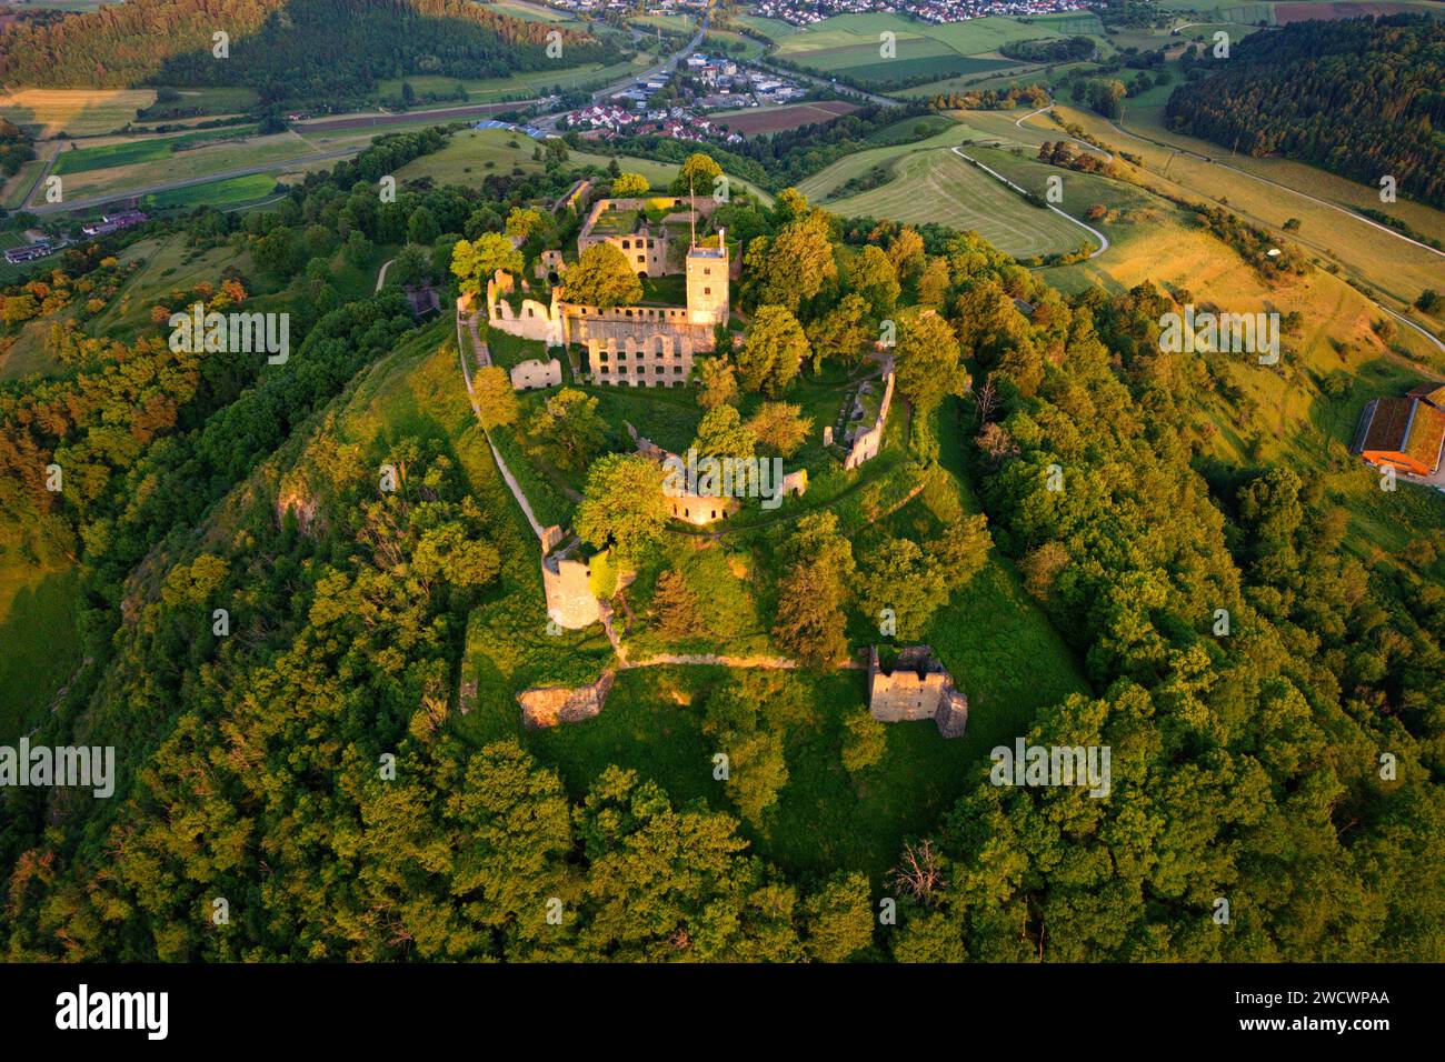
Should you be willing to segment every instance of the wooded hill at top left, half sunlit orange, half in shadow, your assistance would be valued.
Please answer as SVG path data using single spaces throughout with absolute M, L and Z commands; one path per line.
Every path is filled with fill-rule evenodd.
M 249 85 L 267 100 L 368 90 L 405 74 L 488 77 L 611 58 L 594 38 L 470 0 L 129 0 L 0 36 L 10 87 Z M 217 32 L 230 56 L 212 55 Z

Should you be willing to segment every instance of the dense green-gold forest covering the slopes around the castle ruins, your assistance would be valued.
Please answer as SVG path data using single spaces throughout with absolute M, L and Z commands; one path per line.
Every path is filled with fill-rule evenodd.
M 1348 513 L 1311 477 L 1199 459 L 1194 418 L 1221 377 L 1160 353 L 1169 295 L 1066 298 L 975 234 L 840 227 L 796 192 L 720 208 L 749 233 L 740 305 L 818 360 L 858 357 L 864 322 L 899 316 L 913 459 L 967 467 L 991 540 L 1097 691 L 1042 711 L 1029 740 L 1110 746 L 1111 798 L 980 770 L 887 880 L 789 876 L 727 805 L 618 767 L 577 792 L 513 740 L 464 740 L 449 712 L 467 616 L 507 600 L 535 543 L 486 457 L 462 474 L 477 455 L 452 449 L 439 409 L 367 446 L 341 435 L 383 358 L 442 348 L 462 400 L 449 322 L 418 327 L 394 289 L 342 302 L 327 263 L 410 238 L 439 275 L 460 236 L 500 234 L 575 175 L 553 157 L 379 202 L 380 175 L 442 143 L 386 137 L 273 210 L 178 223 L 282 285 L 263 305 L 296 315 L 285 366 L 176 353 L 143 328 L 75 337 L 68 371 L 0 390 L 0 513 L 17 548 L 74 555 L 84 578 L 87 662 L 35 740 L 127 750 L 111 800 L 0 793 L 4 958 L 1445 959 L 1445 588 L 1429 558 L 1350 556 Z M 107 263 L 77 249 L 64 285 L 12 288 L 6 306 Z M 249 280 L 178 302 L 246 299 Z M 961 397 L 970 373 L 985 409 Z M 303 454 L 308 514 L 277 516 Z M 64 496 L 42 484 L 52 459 L 75 484 Z M 377 491 L 381 461 L 394 493 Z M 987 548 L 972 524 L 949 564 Z M 805 535 L 838 564 L 785 543 L 756 578 L 828 647 L 866 620 L 870 587 L 892 588 L 879 571 L 848 584 L 828 520 Z M 734 673 L 701 711 L 766 744 L 760 707 L 796 682 Z M 899 899 L 896 926 L 877 923 L 880 896 Z M 215 897 L 233 912 L 221 932 Z

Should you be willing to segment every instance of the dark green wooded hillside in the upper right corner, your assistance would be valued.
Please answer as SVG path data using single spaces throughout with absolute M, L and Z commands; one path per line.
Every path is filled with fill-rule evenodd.
M 1445 205 L 1445 22 L 1299 22 L 1251 33 L 1169 97 L 1172 127 Z

